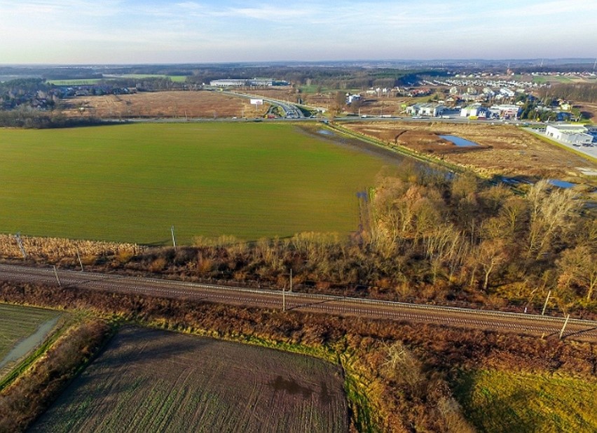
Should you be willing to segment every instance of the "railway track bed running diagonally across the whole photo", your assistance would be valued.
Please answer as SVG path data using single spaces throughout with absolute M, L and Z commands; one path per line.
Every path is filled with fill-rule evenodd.
M 225 285 L 185 283 L 182 281 L 82 271 L 60 270 L 57 275 L 62 287 L 282 309 L 282 292 L 280 291 L 234 288 Z M 0 280 L 13 283 L 57 284 L 53 269 L 8 264 L 0 264 Z M 407 322 L 423 322 L 554 338 L 558 338 L 565 321 L 564 318 L 523 313 L 406 304 L 323 294 L 285 292 L 284 298 L 286 309 L 289 311 L 404 320 Z M 563 338 L 595 343 L 597 342 L 597 321 L 570 319 L 565 327 Z

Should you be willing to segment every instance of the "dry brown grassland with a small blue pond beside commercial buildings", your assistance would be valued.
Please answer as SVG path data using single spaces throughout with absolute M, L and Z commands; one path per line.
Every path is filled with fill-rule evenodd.
M 450 123 L 375 122 L 349 123 L 356 132 L 386 143 L 404 145 L 448 162 L 475 169 L 484 176 L 554 178 L 573 183 L 596 183 L 582 177 L 579 168 L 597 169 L 597 164 L 568 150 L 550 145 L 509 125 L 458 125 Z M 479 148 L 458 148 L 441 139 L 449 134 L 479 143 Z

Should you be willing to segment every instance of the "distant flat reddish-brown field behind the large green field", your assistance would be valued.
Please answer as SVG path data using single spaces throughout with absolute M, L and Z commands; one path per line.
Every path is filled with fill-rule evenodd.
M 64 114 L 98 118 L 247 118 L 261 117 L 268 105 L 255 106 L 249 99 L 221 92 L 142 92 L 67 99 Z

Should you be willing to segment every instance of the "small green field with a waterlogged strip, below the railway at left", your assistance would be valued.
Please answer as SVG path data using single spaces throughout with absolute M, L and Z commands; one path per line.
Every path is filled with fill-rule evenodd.
M 0 304 L 0 376 L 11 367 L 5 358 L 18 341 L 34 334 L 43 323 L 57 318 L 56 311 L 24 306 Z

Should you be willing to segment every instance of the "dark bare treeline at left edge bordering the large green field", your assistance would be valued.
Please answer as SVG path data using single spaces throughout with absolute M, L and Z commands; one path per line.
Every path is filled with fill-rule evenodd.
M 104 121 L 97 118 L 67 118 L 57 112 L 39 111 L 30 107 L 20 107 L 11 111 L 0 111 L 0 127 L 46 129 L 100 124 L 104 124 Z

